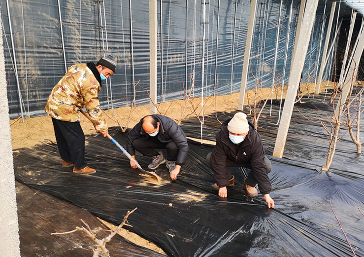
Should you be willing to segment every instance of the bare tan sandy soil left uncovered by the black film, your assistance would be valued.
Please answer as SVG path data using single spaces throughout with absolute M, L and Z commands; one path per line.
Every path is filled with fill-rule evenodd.
M 323 82 L 321 89 L 325 90 L 327 86 L 327 82 Z M 287 86 L 285 87 L 285 89 Z M 301 85 L 301 90 L 305 93 L 305 95 L 312 94 L 314 89 L 314 84 L 303 84 Z M 283 92 L 283 98 L 286 95 L 286 90 Z M 277 87 L 273 90 L 270 88 L 260 89 L 258 94 L 255 94 L 254 91 L 248 91 L 245 95 L 244 104 L 246 105 L 249 101 L 251 104 L 255 95 L 262 99 L 271 98 L 273 95 L 273 99 L 280 99 L 281 97 L 281 88 Z M 236 110 L 239 100 L 239 93 L 233 93 L 232 95 L 224 95 L 224 96 L 216 96 L 216 97 L 207 97 L 204 98 L 204 108 L 203 111 L 205 114 L 214 114 L 217 111 L 232 111 Z M 169 116 L 173 118 L 176 122 L 180 120 L 182 115 L 182 110 L 184 109 L 186 104 L 185 100 L 178 100 L 172 102 L 165 102 L 164 104 L 159 104 L 157 107 L 163 115 Z M 182 115 L 182 119 L 188 117 L 197 117 L 197 115 L 201 115 L 201 98 L 194 98 L 192 99 L 184 114 Z M 113 117 L 112 111 L 106 110 L 105 111 L 105 118 L 109 127 L 119 126 L 117 120 L 119 121 L 121 126 L 134 126 L 140 118 L 145 115 L 149 114 L 149 105 L 147 106 L 137 106 L 136 108 L 131 107 L 121 107 L 113 110 Z M 131 115 L 130 115 L 131 113 Z M 82 114 L 81 117 L 81 127 L 84 133 L 92 134 L 96 133 L 93 125 L 90 121 L 87 120 Z M 128 118 L 130 118 L 128 122 Z M 183 122 L 183 121 L 182 121 Z M 23 148 L 23 147 L 32 147 L 36 144 L 41 144 L 44 141 L 51 140 L 56 142 L 53 125 L 51 118 L 49 116 L 42 116 L 42 117 L 34 117 L 34 118 L 27 118 L 22 122 L 22 119 L 14 119 L 10 120 L 10 128 L 11 128 L 11 141 L 13 149 Z M 190 196 L 192 197 L 192 196 Z M 193 196 L 196 197 L 196 196 Z M 103 221 L 103 220 L 102 220 Z M 110 228 L 115 228 L 116 226 L 103 221 L 106 225 Z M 158 248 L 155 244 L 139 237 L 132 232 L 122 229 L 120 232 L 122 236 L 127 238 L 128 240 L 132 241 L 133 243 L 149 248 L 159 253 L 164 253 L 162 249 Z

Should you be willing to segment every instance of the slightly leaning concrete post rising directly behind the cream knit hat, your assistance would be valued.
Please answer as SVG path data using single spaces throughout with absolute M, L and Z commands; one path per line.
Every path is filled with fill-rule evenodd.
M 257 8 L 257 0 L 252 0 L 252 3 L 250 5 L 248 33 L 246 35 L 243 71 L 241 73 L 241 84 L 240 84 L 240 94 L 239 94 L 239 103 L 238 103 L 239 110 L 243 110 L 243 108 L 244 108 L 245 89 L 246 89 L 246 82 L 248 79 L 248 72 L 249 72 L 249 69 L 248 69 L 249 68 L 249 57 L 250 57 L 250 48 L 252 46 L 256 8 Z

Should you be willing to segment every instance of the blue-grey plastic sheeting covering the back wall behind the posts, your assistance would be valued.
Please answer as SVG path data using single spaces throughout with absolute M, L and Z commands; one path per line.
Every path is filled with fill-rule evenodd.
M 21 114 L 18 85 L 24 115 L 44 115 L 46 100 L 67 68 L 76 63 L 96 62 L 107 53 L 117 59 L 118 66 L 102 86 L 101 107 L 131 104 L 133 85 L 139 79 L 136 104 L 149 103 L 144 89 L 149 88 L 150 65 L 149 7 L 145 0 L 59 2 L 0 0 L 10 117 Z M 282 0 L 282 7 L 280 0 L 259 3 L 249 88 L 256 83 L 252 74 L 262 87 L 288 82 L 300 1 Z M 158 0 L 157 4 L 158 102 L 182 98 L 183 90 L 191 86 L 190 74 L 195 81 L 194 96 L 202 90 L 207 96 L 238 91 L 250 0 L 211 0 L 205 8 L 203 2 L 194 0 Z M 326 30 L 326 25 L 321 26 L 326 24 L 324 6 L 320 1 L 303 81 L 313 82 L 317 76 L 321 32 Z M 341 8 L 344 6 L 343 3 Z M 328 7 L 326 19 L 329 12 Z

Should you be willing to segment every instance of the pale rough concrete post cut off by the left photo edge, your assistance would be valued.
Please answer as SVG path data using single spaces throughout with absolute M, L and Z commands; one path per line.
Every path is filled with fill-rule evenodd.
M 2 23 L 1 16 L 0 22 Z M 2 27 L 0 27 L 0 35 L 2 35 Z M 0 133 L 0 252 L 4 257 L 20 257 L 13 152 L 6 92 L 4 48 L 2 37 L 0 37 L 0 127 L 2 128 Z

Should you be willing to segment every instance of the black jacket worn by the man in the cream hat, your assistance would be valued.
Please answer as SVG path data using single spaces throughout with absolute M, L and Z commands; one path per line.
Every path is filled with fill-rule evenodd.
M 230 159 L 237 164 L 249 163 L 258 182 L 262 194 L 271 190 L 271 184 L 264 165 L 265 147 L 262 144 L 261 136 L 255 130 L 254 125 L 249 122 L 249 133 L 238 147 L 229 139 L 227 120 L 223 123 L 221 130 L 216 134 L 216 146 L 211 155 L 211 166 L 214 170 L 216 184 L 224 187 L 228 184 L 229 178 L 227 160 Z M 236 150 L 237 149 L 237 150 Z

